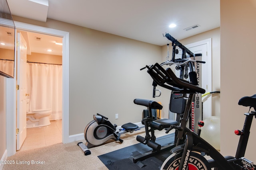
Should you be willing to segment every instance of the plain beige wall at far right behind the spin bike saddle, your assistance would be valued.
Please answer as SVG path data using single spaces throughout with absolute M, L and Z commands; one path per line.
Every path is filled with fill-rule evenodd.
M 220 1 L 220 87 L 221 134 L 220 150 L 224 155 L 234 155 L 239 137 L 235 129 L 242 129 L 244 114 L 249 107 L 238 106 L 243 96 L 256 94 L 255 45 L 256 1 Z M 256 121 L 253 120 L 246 158 L 256 162 Z

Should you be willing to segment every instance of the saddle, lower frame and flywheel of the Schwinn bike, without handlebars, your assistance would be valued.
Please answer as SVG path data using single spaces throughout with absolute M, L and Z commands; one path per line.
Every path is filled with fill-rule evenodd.
M 250 97 L 245 96 L 241 98 L 238 102 L 238 105 L 250 106 L 256 109 L 256 94 Z M 244 157 L 249 139 L 252 119 L 253 117 L 256 117 L 256 111 L 251 111 L 251 113 L 244 113 L 244 115 L 246 115 L 246 118 L 242 131 L 235 130 L 235 134 L 240 135 L 235 157 L 222 156 L 209 143 L 204 141 L 204 139 L 186 129 L 184 131 L 186 134 L 186 142 L 176 146 L 171 150 L 172 155 L 164 161 L 161 170 L 170 170 L 175 166 L 176 168 L 179 167 L 178 170 L 182 170 L 184 167 L 196 166 L 195 160 L 200 162 L 200 166 L 204 167 L 205 169 L 214 168 L 214 170 L 256 170 L 256 165 Z M 198 152 L 207 154 L 212 157 L 212 159 L 206 160 L 204 157 L 202 157 L 202 155 L 196 154 Z M 176 161 L 180 161 L 178 166 L 174 165 Z

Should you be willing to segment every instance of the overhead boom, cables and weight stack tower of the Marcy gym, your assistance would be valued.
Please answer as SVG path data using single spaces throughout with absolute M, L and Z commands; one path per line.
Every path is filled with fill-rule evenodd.
M 160 65 L 176 65 L 176 70 L 180 71 L 180 78 L 188 80 L 192 82 L 193 85 L 202 86 L 202 54 L 194 54 L 189 49 L 187 49 L 184 45 L 182 45 L 177 39 L 172 37 L 170 34 L 166 33 L 163 35 L 168 40 L 172 41 L 172 59 L 169 59 L 169 44 L 167 44 L 167 57 L 164 63 Z M 178 55 L 179 50 L 176 48 L 179 47 L 182 51 L 181 58 L 176 59 L 176 55 Z M 161 95 L 161 91 L 156 89 L 157 84 L 153 81 L 153 98 L 159 97 Z M 156 91 L 159 92 L 159 95 L 156 95 Z M 173 95 L 171 95 L 171 98 Z M 185 99 L 183 99 L 185 100 Z M 179 101 L 183 102 L 184 101 Z M 171 104 L 170 104 L 171 105 Z M 197 122 L 203 119 L 202 115 L 202 95 L 195 94 L 192 106 L 191 106 L 191 117 L 189 128 L 192 129 L 194 132 L 197 131 L 198 126 Z M 174 108 L 174 107 L 172 107 Z M 170 113 L 171 116 L 174 117 L 174 113 Z

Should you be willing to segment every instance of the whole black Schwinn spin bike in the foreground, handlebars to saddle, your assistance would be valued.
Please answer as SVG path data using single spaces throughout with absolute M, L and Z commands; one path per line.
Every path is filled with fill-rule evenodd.
M 186 169 L 200 169 L 210 170 L 256 170 L 256 165 L 252 161 L 244 158 L 246 145 L 249 138 L 250 127 L 253 117 L 256 116 L 256 111 L 245 113 L 246 119 L 242 131 L 236 130 L 236 135 L 240 135 L 236 156 L 222 156 L 218 150 L 214 149 L 209 143 L 186 127 L 189 119 L 189 110 L 194 94 L 205 92 L 204 89 L 194 86 L 175 76 L 170 68 L 166 70 L 156 63 L 154 66 L 148 66 L 148 73 L 153 80 L 160 86 L 165 88 L 178 88 L 178 93 L 189 94 L 184 116 L 181 119 L 179 126 L 170 126 L 166 131 L 168 133 L 171 129 L 176 129 L 177 143 L 176 147 L 172 148 L 172 153 L 162 164 L 161 170 L 186 170 Z M 256 95 L 250 97 L 243 97 L 238 102 L 242 106 L 250 106 L 256 109 Z M 210 156 L 211 160 L 206 160 L 203 153 Z

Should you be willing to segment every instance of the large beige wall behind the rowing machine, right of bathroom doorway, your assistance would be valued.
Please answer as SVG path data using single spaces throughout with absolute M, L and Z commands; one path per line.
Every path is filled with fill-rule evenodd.
M 56 20 L 13 18 L 70 33 L 69 135 L 83 133 L 96 113 L 117 125 L 141 121 L 146 107 L 133 100 L 152 98 L 152 80 L 140 68 L 161 60 L 160 46 Z

